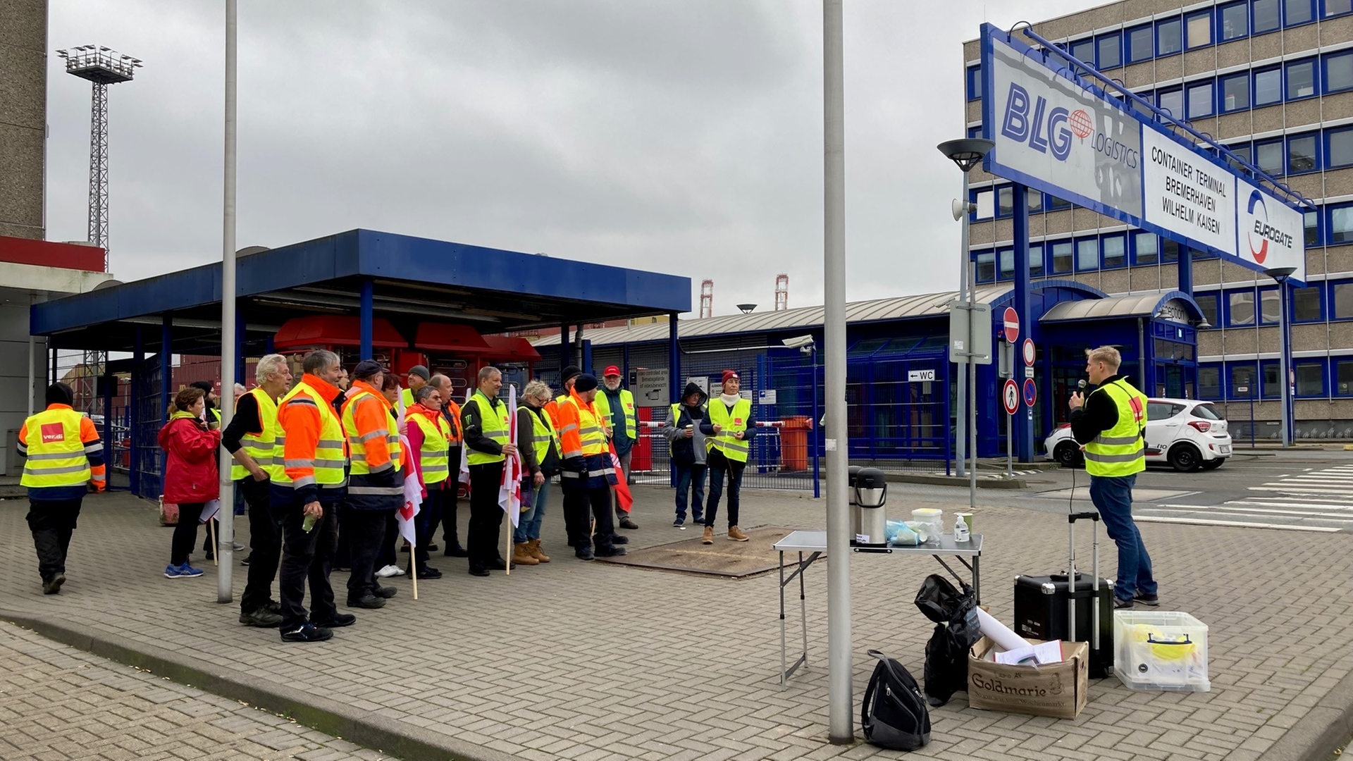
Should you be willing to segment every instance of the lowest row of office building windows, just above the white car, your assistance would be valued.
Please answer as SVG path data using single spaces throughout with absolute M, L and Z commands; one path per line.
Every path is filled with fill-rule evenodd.
M 1197 366 L 1197 395 L 1243 402 L 1281 398 L 1279 360 L 1206 362 Z M 1353 397 L 1353 356 L 1292 360 L 1295 398 Z M 1235 414 L 1230 416 L 1233 420 Z

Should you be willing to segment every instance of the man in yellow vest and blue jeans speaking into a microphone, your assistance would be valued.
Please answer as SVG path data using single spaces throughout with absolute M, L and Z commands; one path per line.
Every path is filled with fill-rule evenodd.
M 1132 486 L 1146 470 L 1146 395 L 1118 374 L 1122 356 L 1114 347 L 1086 349 L 1085 356 L 1085 372 L 1096 389 L 1088 398 L 1084 391 L 1072 394 L 1072 436 L 1084 444 L 1091 501 L 1118 544 L 1114 607 L 1160 605 L 1151 557 L 1132 521 Z

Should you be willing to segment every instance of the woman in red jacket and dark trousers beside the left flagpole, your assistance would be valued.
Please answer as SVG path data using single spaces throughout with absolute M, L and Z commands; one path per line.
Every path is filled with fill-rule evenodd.
M 207 428 L 202 418 L 204 408 L 202 389 L 189 386 L 175 397 L 175 412 L 160 429 L 160 448 L 169 452 L 165 462 L 165 501 L 179 505 L 179 524 L 173 529 L 165 578 L 202 575 L 202 570 L 188 565 L 188 552 L 198 543 L 203 508 L 221 496 L 216 470 L 221 429 Z

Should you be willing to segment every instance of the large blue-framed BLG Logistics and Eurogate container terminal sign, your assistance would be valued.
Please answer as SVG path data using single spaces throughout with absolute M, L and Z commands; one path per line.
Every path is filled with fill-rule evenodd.
M 1302 213 L 1154 115 L 982 24 L 985 169 L 1252 269 L 1306 279 Z

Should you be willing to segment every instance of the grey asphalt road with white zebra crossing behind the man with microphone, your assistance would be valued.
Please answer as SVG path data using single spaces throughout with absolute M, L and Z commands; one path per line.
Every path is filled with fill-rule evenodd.
M 1089 478 L 1081 469 L 1030 473 L 1023 478 L 1028 489 L 978 489 L 977 504 L 1043 512 L 1091 506 Z M 944 501 L 967 500 L 962 487 L 909 485 L 907 489 Z M 1247 455 L 1242 451 L 1216 470 L 1197 473 L 1150 466 L 1137 477 L 1132 515 L 1138 521 L 1155 523 L 1353 531 L 1353 452 L 1260 450 L 1258 455 Z

